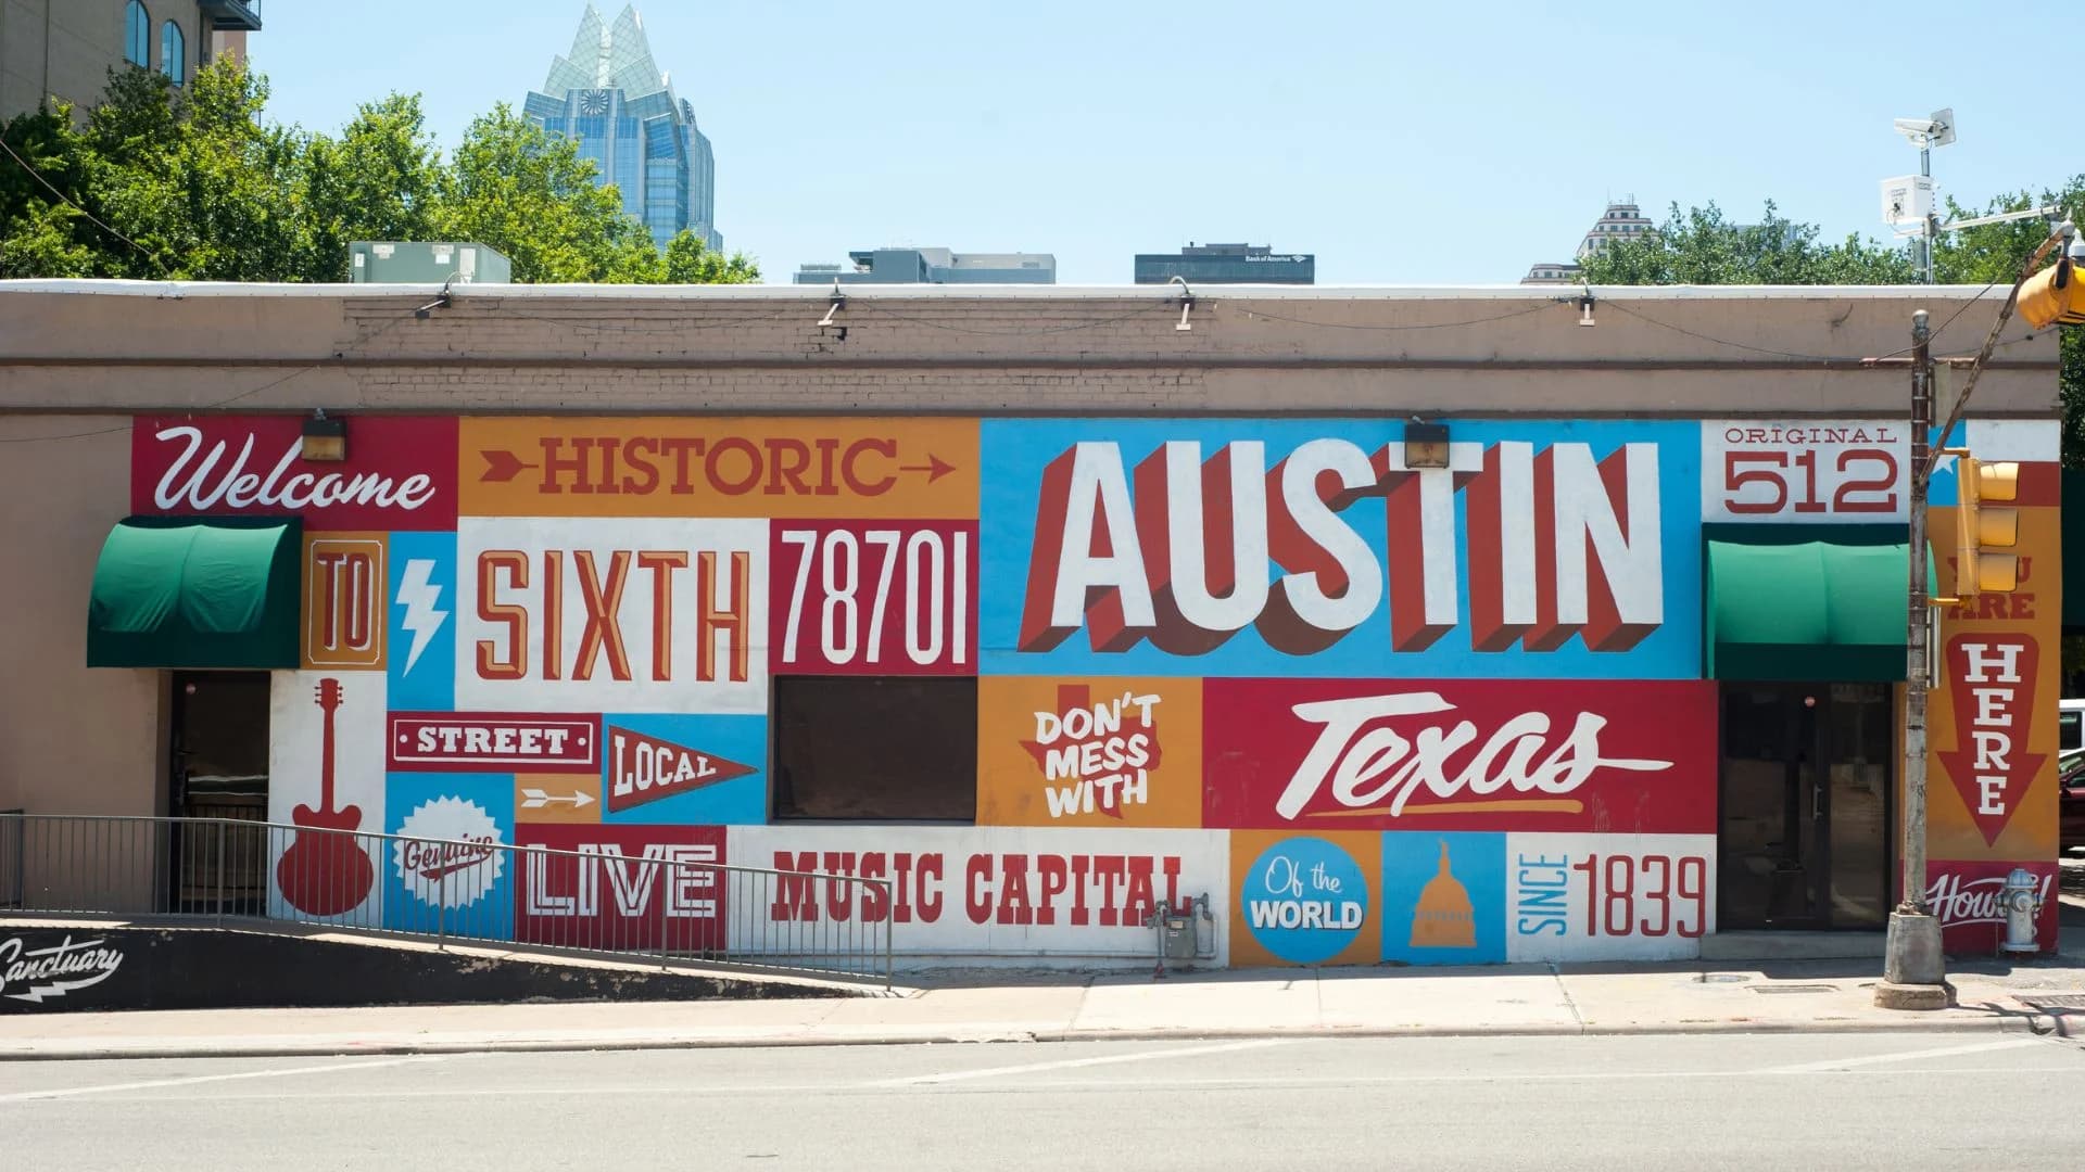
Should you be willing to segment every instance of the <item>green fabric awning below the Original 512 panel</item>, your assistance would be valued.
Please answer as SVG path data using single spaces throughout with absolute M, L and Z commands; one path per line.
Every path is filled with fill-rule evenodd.
M 1904 526 L 1701 526 L 1701 536 L 1710 680 L 1904 680 Z M 1931 551 L 1927 580 L 1941 586 Z

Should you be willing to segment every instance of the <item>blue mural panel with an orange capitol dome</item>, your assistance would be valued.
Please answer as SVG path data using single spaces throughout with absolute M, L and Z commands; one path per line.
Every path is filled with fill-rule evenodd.
M 1382 836 L 1382 959 L 1505 959 L 1505 834 Z

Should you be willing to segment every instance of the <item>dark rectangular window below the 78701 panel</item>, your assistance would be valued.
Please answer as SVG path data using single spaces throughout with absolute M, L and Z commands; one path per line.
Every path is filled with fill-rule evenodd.
M 784 676 L 774 815 L 978 820 L 978 680 Z

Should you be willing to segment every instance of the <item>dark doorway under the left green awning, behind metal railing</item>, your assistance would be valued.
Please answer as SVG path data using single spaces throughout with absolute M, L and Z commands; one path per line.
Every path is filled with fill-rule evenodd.
M 267 895 L 267 672 L 175 672 L 171 807 L 183 820 L 167 845 L 181 911 L 259 911 Z

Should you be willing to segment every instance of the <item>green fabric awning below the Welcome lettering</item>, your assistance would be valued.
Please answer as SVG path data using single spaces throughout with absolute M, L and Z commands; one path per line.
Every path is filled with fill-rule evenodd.
M 296 667 L 294 517 L 129 517 L 102 542 L 88 667 Z

